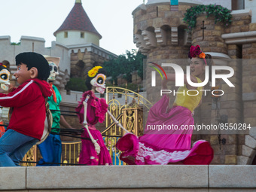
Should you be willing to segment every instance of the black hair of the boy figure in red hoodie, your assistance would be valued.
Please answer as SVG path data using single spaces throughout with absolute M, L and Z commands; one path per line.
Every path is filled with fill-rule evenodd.
M 35 52 L 24 52 L 15 56 L 16 66 L 19 66 L 21 62 L 26 64 L 28 70 L 35 67 L 38 69 L 38 79 L 47 81 L 50 76 L 50 68 L 47 59 L 39 53 Z

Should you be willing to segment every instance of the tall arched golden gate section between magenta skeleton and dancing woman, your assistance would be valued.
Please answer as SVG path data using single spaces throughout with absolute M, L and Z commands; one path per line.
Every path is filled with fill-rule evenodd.
M 139 92 L 139 91 L 138 91 Z M 123 103 L 120 103 L 122 98 Z M 129 103 L 129 99 L 131 102 Z M 108 110 L 113 116 L 123 125 L 123 127 L 130 133 L 136 136 L 143 134 L 143 109 L 149 109 L 151 102 L 144 96 L 132 90 L 121 87 L 107 87 L 106 89 L 106 102 L 108 103 Z M 120 139 L 124 131 L 114 123 L 114 120 L 106 114 L 106 129 L 102 132 L 108 143 L 107 148 L 111 148 L 109 153 L 113 160 L 114 165 L 121 165 L 120 151 L 115 148 L 115 145 Z

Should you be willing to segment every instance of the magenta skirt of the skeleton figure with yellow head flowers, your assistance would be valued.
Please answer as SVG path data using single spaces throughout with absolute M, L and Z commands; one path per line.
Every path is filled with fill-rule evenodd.
M 87 164 L 90 166 L 111 165 L 112 160 L 108 152 L 108 148 L 105 146 L 105 143 L 103 141 L 102 134 L 99 132 L 99 130 L 90 130 L 90 134 L 93 136 L 93 139 L 97 140 L 97 143 L 100 146 L 100 153 L 99 155 L 96 153 L 93 142 L 91 142 L 90 140 L 82 139 L 82 148 L 79 156 L 79 164 Z M 84 130 L 81 136 L 85 138 L 90 138 L 87 130 Z

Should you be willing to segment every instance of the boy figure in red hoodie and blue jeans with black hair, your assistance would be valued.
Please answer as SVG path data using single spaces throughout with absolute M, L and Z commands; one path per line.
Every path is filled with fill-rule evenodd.
M 46 117 L 45 97 L 51 96 L 47 60 L 34 52 L 16 57 L 14 77 L 20 84 L 11 93 L 0 93 L 0 105 L 13 108 L 6 133 L 0 138 L 0 166 L 19 166 L 20 160 L 40 141 Z

